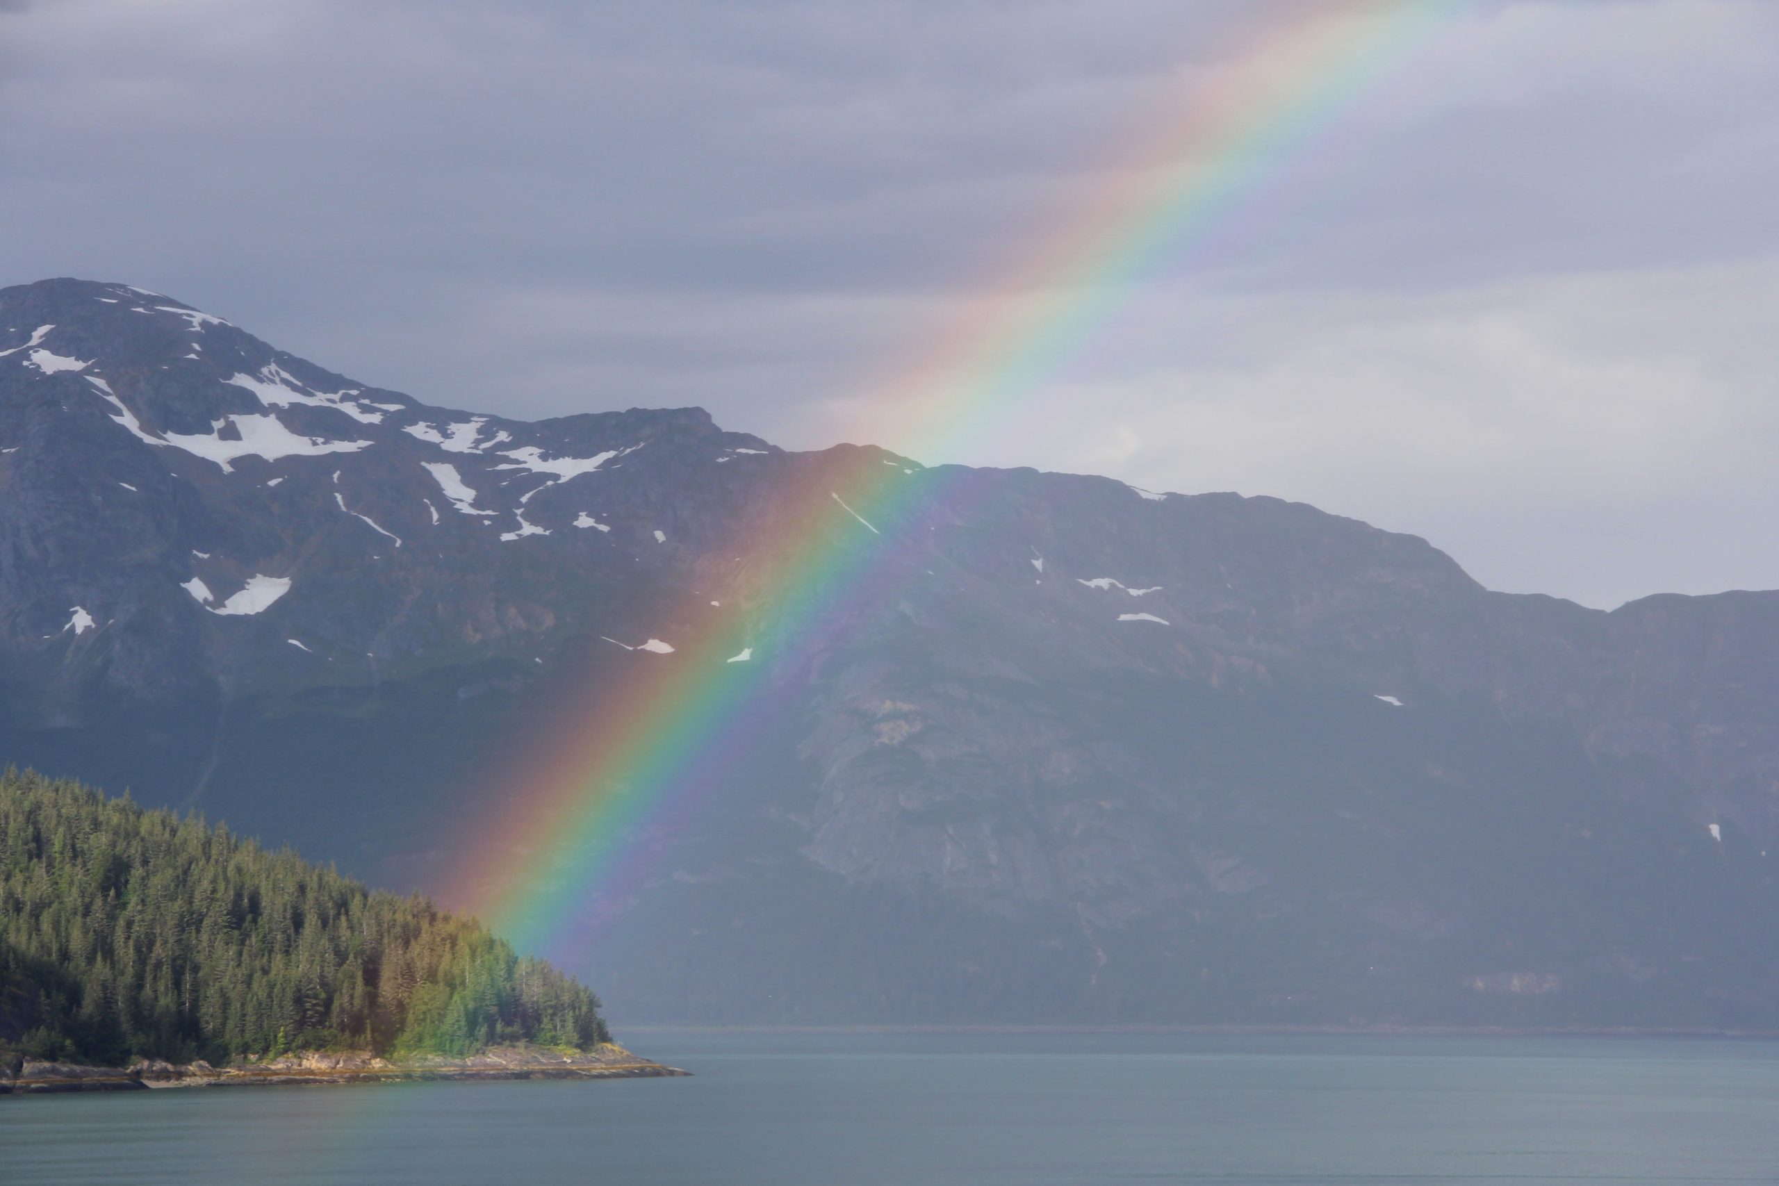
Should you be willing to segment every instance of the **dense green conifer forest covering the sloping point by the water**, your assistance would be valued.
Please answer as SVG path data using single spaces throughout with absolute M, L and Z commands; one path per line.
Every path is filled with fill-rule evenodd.
M 0 775 L 0 1047 L 221 1062 L 591 1049 L 600 1001 L 471 918 L 75 782 Z

